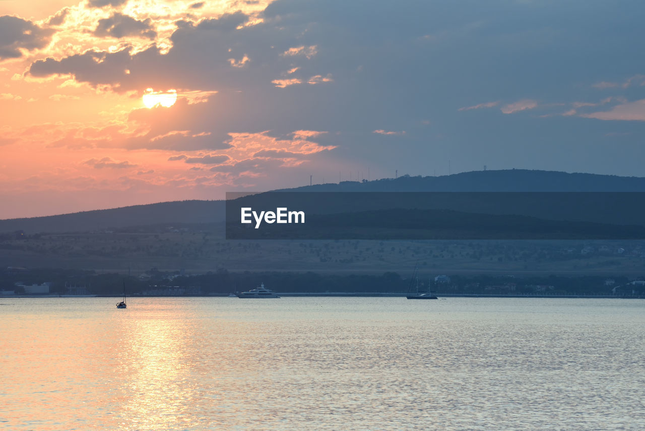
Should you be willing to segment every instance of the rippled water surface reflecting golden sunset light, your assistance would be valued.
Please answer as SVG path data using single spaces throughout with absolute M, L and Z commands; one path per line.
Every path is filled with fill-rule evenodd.
M 0 429 L 645 429 L 645 301 L 0 303 Z

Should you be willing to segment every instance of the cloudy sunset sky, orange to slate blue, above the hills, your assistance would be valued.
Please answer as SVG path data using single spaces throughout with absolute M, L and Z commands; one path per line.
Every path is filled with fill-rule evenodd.
M 644 14 L 0 0 L 0 218 L 484 165 L 644 176 Z

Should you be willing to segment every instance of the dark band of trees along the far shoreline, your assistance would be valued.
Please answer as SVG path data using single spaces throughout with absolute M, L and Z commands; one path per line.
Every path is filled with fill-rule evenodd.
M 644 283 L 630 284 L 623 276 L 450 276 L 434 281 L 429 274 L 419 275 L 421 290 L 430 286 L 439 294 L 492 295 L 617 295 L 645 297 Z M 282 293 L 355 293 L 405 294 L 416 290 L 417 281 L 395 272 L 381 275 L 337 275 L 314 272 L 229 272 L 220 269 L 206 274 L 185 275 L 181 271 L 163 272 L 152 268 L 140 277 L 123 274 L 97 274 L 93 271 L 64 269 L 7 269 L 0 272 L 0 289 L 14 290 L 15 283 L 51 283 L 51 294 L 68 294 L 70 288 L 84 288 L 88 294 L 119 296 L 126 286 L 128 296 L 135 295 L 225 295 L 243 292 L 261 283 Z M 152 293 L 151 293 L 152 292 Z M 21 292 L 17 292 L 21 293 Z

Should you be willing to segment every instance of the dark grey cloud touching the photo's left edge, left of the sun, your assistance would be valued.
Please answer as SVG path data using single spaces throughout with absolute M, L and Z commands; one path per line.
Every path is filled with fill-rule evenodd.
M 53 33 L 19 17 L 0 16 L 0 61 L 21 57 L 21 49 L 44 48 Z

